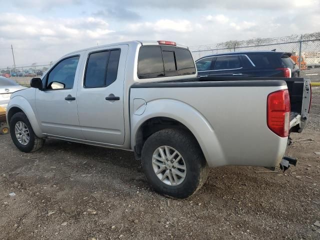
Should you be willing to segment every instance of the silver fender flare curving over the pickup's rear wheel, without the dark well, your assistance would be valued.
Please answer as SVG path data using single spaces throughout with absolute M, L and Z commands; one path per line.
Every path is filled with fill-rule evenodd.
M 143 122 L 153 117 L 169 117 L 181 122 L 193 133 L 210 167 L 227 164 L 214 129 L 192 106 L 173 99 L 155 99 L 140 107 L 145 107 L 141 115 L 131 114 L 132 149 L 135 146 L 136 133 Z

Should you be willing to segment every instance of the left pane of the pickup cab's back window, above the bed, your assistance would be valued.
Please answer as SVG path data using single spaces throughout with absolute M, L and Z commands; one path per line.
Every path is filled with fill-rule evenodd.
M 164 76 L 161 47 L 140 47 L 138 57 L 138 77 L 150 78 L 158 76 Z

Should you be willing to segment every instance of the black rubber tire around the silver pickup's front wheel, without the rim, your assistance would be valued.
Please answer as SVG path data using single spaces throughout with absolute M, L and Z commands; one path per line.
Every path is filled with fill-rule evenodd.
M 29 136 L 29 140 L 27 143 L 22 144 L 16 134 L 15 134 L 15 124 L 17 122 L 22 122 L 26 125 L 27 129 L 28 129 L 28 136 Z M 44 144 L 44 139 L 43 138 L 39 138 L 35 135 L 31 124 L 28 120 L 28 118 L 26 117 L 26 115 L 23 112 L 17 112 L 15 113 L 10 120 L 10 135 L 11 135 L 11 139 L 14 143 L 14 145 L 20 150 L 20 151 L 24 151 L 24 152 L 32 152 L 32 151 L 36 151 L 38 149 L 40 149 L 43 144 Z

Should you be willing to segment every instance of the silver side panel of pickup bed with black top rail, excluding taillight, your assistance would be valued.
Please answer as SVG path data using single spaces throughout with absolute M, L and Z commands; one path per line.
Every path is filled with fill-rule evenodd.
M 277 166 L 287 137 L 268 128 L 266 98 L 286 88 L 283 80 L 136 83 L 130 88 L 132 135 L 141 122 L 167 117 L 190 129 L 211 167 Z

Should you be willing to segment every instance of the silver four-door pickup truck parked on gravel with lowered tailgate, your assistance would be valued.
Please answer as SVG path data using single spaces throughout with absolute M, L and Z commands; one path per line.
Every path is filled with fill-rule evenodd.
M 279 164 L 311 94 L 308 80 L 283 79 L 196 78 L 185 46 L 114 43 L 71 52 L 31 79 L 11 95 L 7 122 L 24 152 L 48 137 L 134 151 L 156 191 L 184 198 L 208 167 Z

